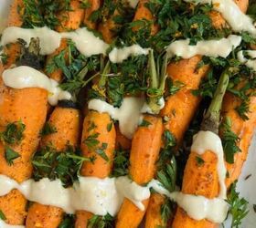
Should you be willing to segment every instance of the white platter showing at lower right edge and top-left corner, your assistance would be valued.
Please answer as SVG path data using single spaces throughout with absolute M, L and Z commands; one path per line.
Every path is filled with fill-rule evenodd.
M 9 5 L 11 3 L 12 0 L 0 0 L 0 33 L 5 28 Z M 249 175 L 251 175 L 250 178 L 245 180 Z M 253 210 L 253 204 L 256 204 L 256 137 L 254 137 L 251 142 L 249 156 L 242 169 L 240 179 L 237 184 L 237 190 L 240 192 L 240 196 L 244 197 L 250 203 L 250 212 L 242 221 L 240 228 L 255 228 L 256 212 Z M 230 224 L 228 220 L 225 223 L 225 228 L 229 227 Z

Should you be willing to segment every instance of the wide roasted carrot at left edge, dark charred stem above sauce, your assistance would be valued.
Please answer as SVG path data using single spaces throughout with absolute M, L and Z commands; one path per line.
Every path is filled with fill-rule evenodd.
M 31 42 L 30 49 L 33 49 L 35 61 L 39 54 L 38 41 Z M 29 48 L 28 48 L 29 50 Z M 39 132 L 42 129 L 47 117 L 48 91 L 42 88 L 14 89 L 0 88 L 0 126 L 5 129 L 9 123 L 21 121 L 25 125 L 23 138 L 19 143 L 7 145 L 15 150 L 20 157 L 9 165 L 5 160 L 5 153 L 0 153 L 0 173 L 17 182 L 26 181 L 32 174 L 30 158 L 39 143 Z M 0 142 L 0 149 L 5 151 L 3 141 Z M 15 199 L 11 200 L 10 198 Z M 6 223 L 23 224 L 26 216 L 27 200 L 24 196 L 14 190 L 7 195 L 0 197 L 0 210 L 5 213 Z

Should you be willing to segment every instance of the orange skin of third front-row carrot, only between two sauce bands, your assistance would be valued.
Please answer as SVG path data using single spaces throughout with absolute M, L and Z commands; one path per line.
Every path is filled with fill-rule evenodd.
M 99 113 L 97 111 L 89 111 L 88 115 L 83 122 L 82 140 L 81 140 L 81 151 L 84 157 L 95 157 L 94 162 L 84 162 L 81 168 L 81 175 L 83 176 L 93 176 L 98 178 L 106 178 L 112 171 L 112 161 L 115 149 L 115 129 L 108 130 L 108 125 L 112 123 L 112 119 L 107 113 Z M 91 125 L 96 127 L 90 130 Z M 93 134 L 99 134 L 96 140 L 99 144 L 95 149 L 101 148 L 102 143 L 107 143 L 107 148 L 104 150 L 105 154 L 109 158 L 109 161 L 104 160 L 95 151 L 90 150 L 85 140 L 88 139 Z

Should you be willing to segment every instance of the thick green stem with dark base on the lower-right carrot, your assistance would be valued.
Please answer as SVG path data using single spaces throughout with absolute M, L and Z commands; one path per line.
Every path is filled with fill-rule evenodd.
M 211 100 L 208 111 L 201 124 L 201 130 L 210 130 L 219 134 L 219 119 L 222 100 L 229 85 L 229 70 L 225 70 L 219 78 L 219 83 Z

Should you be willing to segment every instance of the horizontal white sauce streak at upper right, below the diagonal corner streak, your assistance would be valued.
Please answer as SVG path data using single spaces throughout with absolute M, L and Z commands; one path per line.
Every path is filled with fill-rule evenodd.
M 197 45 L 189 45 L 189 39 L 176 40 L 171 43 L 166 52 L 169 57 L 190 58 L 196 55 L 208 57 L 228 57 L 233 48 L 240 46 L 241 37 L 230 35 L 219 40 L 198 41 Z

